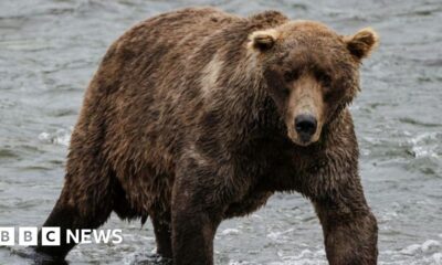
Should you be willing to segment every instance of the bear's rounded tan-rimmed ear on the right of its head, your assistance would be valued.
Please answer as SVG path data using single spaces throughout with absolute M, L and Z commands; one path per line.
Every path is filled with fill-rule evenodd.
M 366 28 L 358 31 L 355 35 L 345 36 L 347 49 L 358 60 L 370 55 L 371 51 L 378 45 L 379 36 L 371 29 Z

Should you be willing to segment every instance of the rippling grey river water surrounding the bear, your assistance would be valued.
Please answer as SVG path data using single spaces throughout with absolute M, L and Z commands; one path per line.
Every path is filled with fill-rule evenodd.
M 84 89 L 112 41 L 148 17 L 202 4 L 244 15 L 277 9 L 341 33 L 379 32 L 351 106 L 379 263 L 442 264 L 441 0 L 1 0 L 0 226 L 44 222 Z M 151 264 L 150 224 L 113 215 L 104 227 L 122 229 L 124 242 L 81 245 L 71 264 Z M 326 264 L 319 223 L 298 194 L 276 194 L 254 214 L 223 222 L 214 244 L 217 264 Z M 1 247 L 0 264 L 29 261 Z

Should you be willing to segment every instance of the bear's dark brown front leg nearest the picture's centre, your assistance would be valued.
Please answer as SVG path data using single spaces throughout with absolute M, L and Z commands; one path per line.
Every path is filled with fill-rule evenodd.
M 210 165 L 210 166 L 209 166 Z M 229 172 L 233 166 L 197 165 L 190 159 L 180 167 L 172 190 L 172 253 L 175 265 L 212 265 L 213 239 L 228 205 L 246 187 Z

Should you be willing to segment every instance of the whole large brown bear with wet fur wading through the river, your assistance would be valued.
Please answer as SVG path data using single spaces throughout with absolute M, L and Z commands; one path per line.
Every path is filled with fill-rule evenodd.
M 348 104 L 371 29 L 339 35 L 276 11 L 190 8 L 148 19 L 107 51 L 72 135 L 60 199 L 43 226 L 95 229 L 149 216 L 158 253 L 213 264 L 224 219 L 274 192 L 308 198 L 330 264 L 376 264 L 377 222 L 358 174 Z

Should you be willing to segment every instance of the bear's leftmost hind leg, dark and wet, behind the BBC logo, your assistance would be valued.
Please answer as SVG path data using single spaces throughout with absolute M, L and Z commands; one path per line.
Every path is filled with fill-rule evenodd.
M 93 174 L 94 171 L 66 174 L 61 195 L 43 224 L 44 227 L 60 227 L 60 245 L 43 245 L 40 230 L 35 247 L 39 254 L 64 261 L 76 245 L 72 240 L 67 243 L 67 231 L 75 234 L 75 230 L 97 229 L 107 221 L 113 210 L 116 183 L 113 176 L 104 171 L 98 171 L 98 174 Z

